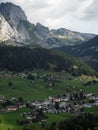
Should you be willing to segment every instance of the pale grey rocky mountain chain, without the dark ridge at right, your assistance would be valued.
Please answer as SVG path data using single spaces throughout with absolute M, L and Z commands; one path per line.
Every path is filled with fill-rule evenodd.
M 31 24 L 19 6 L 9 2 L 0 4 L 0 42 L 5 44 L 55 48 L 80 44 L 94 36 L 63 28 L 49 30 L 40 23 Z

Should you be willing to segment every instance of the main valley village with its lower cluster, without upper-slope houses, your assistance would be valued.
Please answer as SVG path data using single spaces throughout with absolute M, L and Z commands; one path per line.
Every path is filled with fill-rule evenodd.
M 89 102 L 86 101 L 89 99 Z M 85 108 L 98 107 L 98 94 L 82 94 L 76 96 L 72 94 L 49 96 L 45 100 L 36 101 L 24 101 L 22 97 L 18 100 L 13 97 L 11 100 L 6 100 L 4 96 L 0 95 L 0 112 L 17 111 L 22 108 L 29 108 L 30 112 L 23 112 L 20 116 L 24 117 L 24 120 L 17 121 L 19 125 L 23 125 L 30 122 L 38 122 L 45 124 L 47 122 L 46 113 L 59 114 L 59 113 L 73 113 L 80 114 L 85 112 Z

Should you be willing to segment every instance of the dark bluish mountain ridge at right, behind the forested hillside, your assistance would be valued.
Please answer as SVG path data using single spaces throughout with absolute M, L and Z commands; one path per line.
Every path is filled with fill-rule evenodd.
M 57 48 L 57 50 L 80 58 L 98 71 L 98 35 L 80 45 L 63 46 L 61 48 Z

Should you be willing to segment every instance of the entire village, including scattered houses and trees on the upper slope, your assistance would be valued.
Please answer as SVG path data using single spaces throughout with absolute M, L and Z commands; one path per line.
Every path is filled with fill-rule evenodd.
M 30 80 L 33 84 L 36 81 L 41 80 L 46 83 L 45 86 L 47 89 L 52 91 L 53 87 L 55 87 L 62 80 L 60 76 L 47 75 L 42 74 L 38 75 L 37 73 L 20 73 L 20 74 L 3 74 L 1 78 L 11 78 L 11 77 L 21 77 Z M 81 79 L 71 79 L 69 77 L 66 80 L 80 80 Z M 83 87 L 90 86 L 93 83 L 97 83 L 98 81 L 88 81 L 83 84 Z M 22 112 L 20 117 L 23 117 L 23 120 L 17 119 L 16 123 L 18 125 L 28 124 L 32 122 L 37 122 L 41 125 L 45 125 L 47 123 L 48 116 L 47 114 L 60 114 L 60 113 L 72 113 L 75 115 L 79 115 L 81 113 L 85 113 L 85 108 L 90 107 L 98 107 L 98 92 L 96 93 L 85 93 L 82 88 L 78 92 L 70 91 L 70 86 L 66 84 L 67 91 L 65 94 L 59 95 L 49 95 L 46 99 L 43 100 L 28 100 L 24 99 L 22 96 L 16 98 L 12 97 L 11 99 L 6 99 L 3 95 L 0 95 L 0 112 L 12 112 L 18 111 L 23 108 L 28 108 L 29 112 Z M 13 82 L 9 81 L 8 86 L 13 87 Z M 77 89 L 73 86 L 73 89 Z

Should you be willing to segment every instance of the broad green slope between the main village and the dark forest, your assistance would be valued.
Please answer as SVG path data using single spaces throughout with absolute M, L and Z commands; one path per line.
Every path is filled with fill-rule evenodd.
M 33 82 L 31 80 L 15 77 L 15 78 L 1 78 L 0 79 L 0 95 L 4 95 L 6 98 L 10 99 L 12 97 L 20 97 L 23 96 L 24 99 L 29 100 L 41 100 L 47 98 L 49 95 L 57 95 L 64 94 L 67 91 L 73 92 L 78 91 L 81 87 L 84 89 L 86 93 L 88 92 L 96 92 L 98 91 L 98 84 L 90 85 L 89 87 L 83 87 L 82 84 L 86 82 L 86 80 L 79 80 L 78 78 L 72 78 L 72 80 L 68 80 L 68 75 L 64 73 L 54 73 L 54 72 L 41 72 L 41 75 L 45 74 L 53 74 L 57 75 L 57 77 L 61 76 L 59 82 L 55 83 L 55 86 L 50 90 L 47 88 L 48 83 L 44 82 L 42 79 L 35 79 Z M 13 87 L 9 86 L 9 81 L 12 82 Z M 77 88 L 74 89 L 73 86 Z

